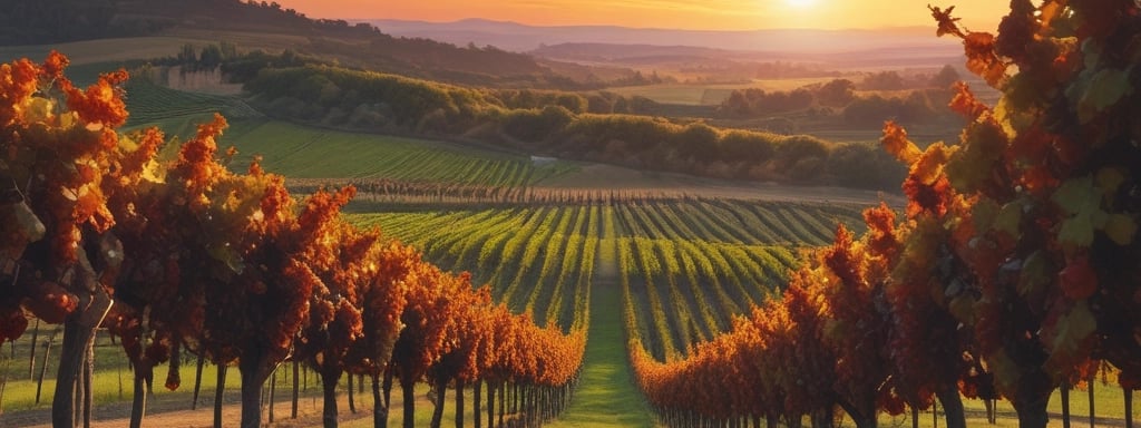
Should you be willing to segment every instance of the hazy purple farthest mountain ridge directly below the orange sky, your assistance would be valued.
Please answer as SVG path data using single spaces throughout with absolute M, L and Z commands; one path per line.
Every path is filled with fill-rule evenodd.
M 900 46 L 947 51 L 960 49 L 961 53 L 956 41 L 936 38 L 934 25 L 883 30 L 697 31 L 610 25 L 532 26 L 478 18 L 450 23 L 398 19 L 350 19 L 350 22 L 365 22 L 393 35 L 434 39 L 460 46 L 491 45 L 511 51 L 531 51 L 544 45 L 607 43 L 685 46 L 801 55 L 828 55 Z

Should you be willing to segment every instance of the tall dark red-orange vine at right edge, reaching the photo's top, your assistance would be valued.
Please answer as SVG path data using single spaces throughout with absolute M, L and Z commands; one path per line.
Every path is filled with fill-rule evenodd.
M 968 68 L 1003 97 L 992 110 L 957 86 L 952 108 L 971 123 L 956 147 L 921 152 L 891 124 L 885 144 L 912 164 L 908 216 L 936 220 L 923 234 L 949 250 L 915 265 L 955 267 L 942 284 L 957 298 L 950 312 L 1020 425 L 1042 427 L 1050 391 L 1091 353 L 1115 355 L 1123 373 L 1136 366 L 1119 336 L 1138 325 L 1123 316 L 1135 312 L 1125 296 L 1138 283 L 1125 277 L 1139 260 L 1136 208 L 1118 196 L 1139 160 L 1126 143 L 1138 131 L 1119 119 L 1136 112 L 1123 71 L 1134 60 L 1093 53 L 1132 40 L 1138 6 L 1014 1 L 997 37 L 962 30 L 952 10 L 932 8 L 939 34 L 962 38 Z

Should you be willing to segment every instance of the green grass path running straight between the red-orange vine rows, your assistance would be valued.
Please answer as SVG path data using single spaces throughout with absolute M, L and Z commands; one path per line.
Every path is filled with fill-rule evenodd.
M 614 237 L 605 236 L 598 251 L 590 292 L 590 326 L 578 390 L 558 420 L 569 427 L 654 427 L 654 419 L 634 383 L 626 358 L 622 321 L 622 289 Z M 606 245 L 609 245 L 608 248 Z

